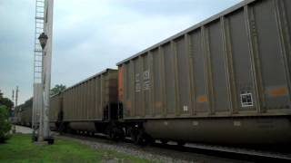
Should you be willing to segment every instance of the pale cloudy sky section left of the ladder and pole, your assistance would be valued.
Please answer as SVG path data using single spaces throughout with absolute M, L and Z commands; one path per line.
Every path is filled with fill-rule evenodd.
M 12 89 L 19 85 L 20 102 L 28 99 L 32 92 L 33 4 L 25 0 L 0 3 L 0 90 L 10 98 Z

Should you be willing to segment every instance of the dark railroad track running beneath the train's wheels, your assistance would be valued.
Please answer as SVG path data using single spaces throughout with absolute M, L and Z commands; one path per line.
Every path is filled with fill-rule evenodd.
M 112 140 L 106 139 L 103 134 L 95 134 L 94 136 L 85 135 L 73 135 L 65 134 L 65 137 L 73 137 L 75 139 L 86 139 L 86 140 L 96 140 L 103 139 L 105 142 L 112 142 Z M 126 138 L 123 141 L 127 144 L 133 145 L 130 138 Z M 168 144 L 163 144 L 159 141 L 147 146 L 154 147 L 158 149 L 169 149 L 173 151 L 185 152 L 186 154 L 200 154 L 206 156 L 212 156 L 216 158 L 229 158 L 237 161 L 250 161 L 250 162 L 268 162 L 268 161 L 279 161 L 279 162 L 289 162 L 291 161 L 291 152 L 289 151 L 271 151 L 265 149 L 246 149 L 246 148 L 235 148 L 235 147 L 225 147 L 218 145 L 206 145 L 199 143 L 186 144 L 186 146 L 177 146 L 175 142 L 169 142 Z M 145 147 L 144 147 L 145 149 Z

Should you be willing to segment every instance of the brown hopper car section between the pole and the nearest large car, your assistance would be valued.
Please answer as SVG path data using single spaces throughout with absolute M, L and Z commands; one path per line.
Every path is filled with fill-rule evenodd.
M 76 83 L 52 97 L 50 106 L 51 129 L 108 133 L 116 128 L 117 70 L 106 69 Z

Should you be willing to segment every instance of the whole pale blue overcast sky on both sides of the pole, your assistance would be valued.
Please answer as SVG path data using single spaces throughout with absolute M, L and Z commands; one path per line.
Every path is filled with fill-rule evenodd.
M 115 68 L 242 0 L 55 0 L 52 87 Z M 0 90 L 32 96 L 35 0 L 0 0 Z

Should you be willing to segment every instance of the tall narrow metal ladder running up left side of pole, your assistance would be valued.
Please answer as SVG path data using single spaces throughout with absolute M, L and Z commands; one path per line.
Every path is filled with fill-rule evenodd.
M 35 0 L 35 50 L 34 50 L 34 108 L 32 117 L 32 127 L 39 128 L 39 106 L 42 104 L 40 90 L 42 89 L 43 77 L 43 50 L 38 41 L 38 36 L 44 33 L 45 25 L 45 0 Z

